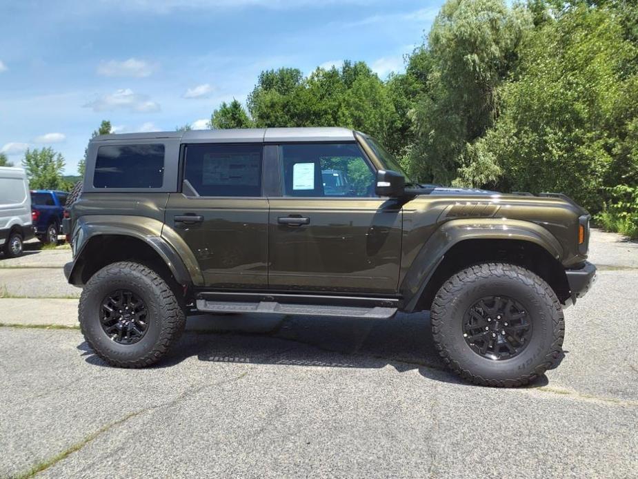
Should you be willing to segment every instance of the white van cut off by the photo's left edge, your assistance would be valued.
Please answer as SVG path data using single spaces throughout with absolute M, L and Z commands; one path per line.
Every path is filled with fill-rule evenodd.
M 29 182 L 22 168 L 0 166 L 0 251 L 22 254 L 22 242 L 33 237 Z

